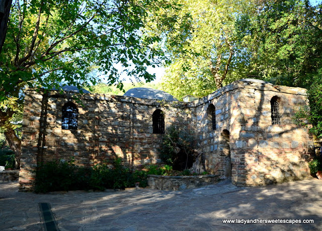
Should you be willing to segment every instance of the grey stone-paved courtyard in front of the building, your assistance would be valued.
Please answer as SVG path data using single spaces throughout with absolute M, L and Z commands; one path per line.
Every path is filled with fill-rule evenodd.
M 51 194 L 22 193 L 17 183 L 2 183 L 0 230 L 44 230 L 39 203 L 50 204 L 59 230 L 322 230 L 322 181 L 313 178 L 252 188 L 220 182 L 175 192 Z M 314 223 L 227 224 L 222 219 Z

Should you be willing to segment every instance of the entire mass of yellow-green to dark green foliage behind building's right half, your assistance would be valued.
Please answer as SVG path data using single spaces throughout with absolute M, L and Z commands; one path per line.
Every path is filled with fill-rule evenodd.
M 163 38 L 172 60 L 163 87 L 178 98 L 204 96 L 241 78 L 308 87 L 318 74 L 320 6 L 307 0 L 173 2 L 180 10 L 160 10 L 148 29 Z

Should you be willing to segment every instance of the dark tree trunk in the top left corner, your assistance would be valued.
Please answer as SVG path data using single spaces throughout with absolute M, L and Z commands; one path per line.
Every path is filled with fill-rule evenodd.
M 0 0 L 0 54 L 5 44 L 12 0 Z

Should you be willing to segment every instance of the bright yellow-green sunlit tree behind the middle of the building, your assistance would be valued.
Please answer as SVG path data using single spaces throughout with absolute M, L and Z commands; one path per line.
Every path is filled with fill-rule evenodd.
M 235 20 L 251 6 L 249 1 L 224 0 L 174 0 L 173 5 L 178 8 L 160 9 L 159 17 L 152 14 L 147 27 L 164 38 L 172 61 L 164 87 L 178 98 L 203 96 L 222 87 L 234 66 Z M 171 83 L 180 83 L 180 88 Z

